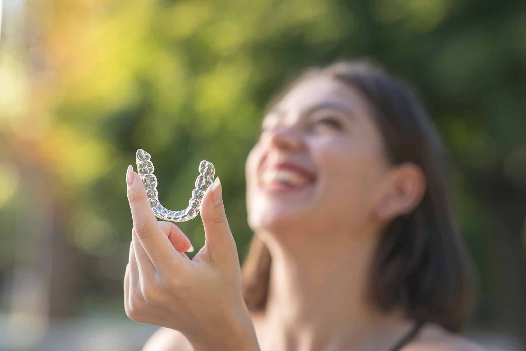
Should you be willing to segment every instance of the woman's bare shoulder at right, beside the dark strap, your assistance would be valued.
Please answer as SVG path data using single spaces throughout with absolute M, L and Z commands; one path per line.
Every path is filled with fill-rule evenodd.
M 413 342 L 403 351 L 485 351 L 483 347 L 469 339 L 449 332 L 438 324 L 428 323 L 418 333 Z

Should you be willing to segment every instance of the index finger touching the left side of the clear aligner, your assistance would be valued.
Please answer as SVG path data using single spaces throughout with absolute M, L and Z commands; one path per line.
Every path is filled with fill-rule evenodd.
M 174 262 L 174 260 L 183 262 L 183 258 L 177 253 L 166 234 L 157 225 L 157 219 L 148 203 L 148 196 L 146 195 L 143 181 L 136 172 L 133 172 L 131 165 L 128 166 L 128 171 L 126 172 L 126 183 L 128 184 L 126 194 L 130 204 L 133 226 L 151 263 L 159 270 L 159 268 L 163 268 L 163 265 L 166 266 Z

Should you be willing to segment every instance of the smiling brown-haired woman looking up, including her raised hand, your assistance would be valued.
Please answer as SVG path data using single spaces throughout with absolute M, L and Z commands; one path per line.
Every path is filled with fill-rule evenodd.
M 246 178 L 241 275 L 219 180 L 189 260 L 128 171 L 126 312 L 166 327 L 145 350 L 480 350 L 456 334 L 471 265 L 439 135 L 407 87 L 363 63 L 309 69 L 271 100 Z

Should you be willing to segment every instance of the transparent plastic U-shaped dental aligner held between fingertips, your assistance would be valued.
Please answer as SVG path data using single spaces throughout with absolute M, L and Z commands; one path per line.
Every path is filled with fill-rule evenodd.
M 159 202 L 157 177 L 154 175 L 155 168 L 154 164 L 151 163 L 150 154 L 143 149 L 138 149 L 135 161 L 137 162 L 137 173 L 143 180 L 148 202 L 156 217 L 171 222 L 185 222 L 197 216 L 201 209 L 201 200 L 214 180 L 215 169 L 211 162 L 201 161 L 199 164 L 199 175 L 195 182 L 195 189 L 192 190 L 192 197 L 188 201 L 188 207 L 180 211 L 172 211 Z

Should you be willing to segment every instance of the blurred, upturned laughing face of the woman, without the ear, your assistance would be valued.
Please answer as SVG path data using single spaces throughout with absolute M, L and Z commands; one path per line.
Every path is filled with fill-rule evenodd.
M 249 226 L 359 229 L 386 168 L 361 93 L 330 77 L 308 78 L 264 117 L 248 155 Z

